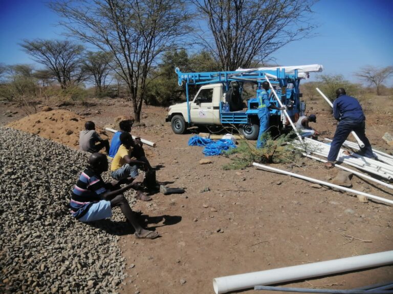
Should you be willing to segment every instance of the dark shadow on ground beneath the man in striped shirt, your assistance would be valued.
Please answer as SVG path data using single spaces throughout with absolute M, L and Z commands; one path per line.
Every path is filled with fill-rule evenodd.
M 139 223 L 142 227 L 146 227 L 149 224 L 159 224 L 157 226 L 148 227 L 149 230 L 155 230 L 159 227 L 171 226 L 181 222 L 182 217 L 179 215 L 160 215 L 160 216 L 148 216 L 145 214 L 137 213 Z M 108 234 L 116 236 L 124 236 L 129 234 L 134 234 L 135 230 L 133 226 L 129 225 L 127 222 L 117 222 L 112 219 L 101 219 L 95 222 L 86 223 L 93 228 L 105 231 Z

